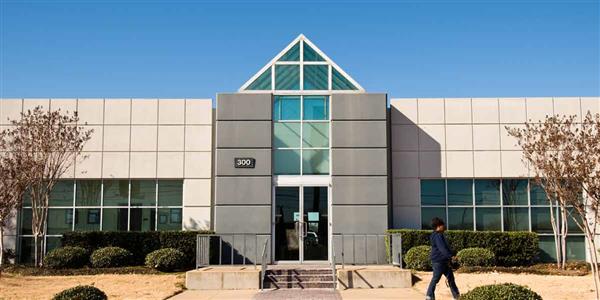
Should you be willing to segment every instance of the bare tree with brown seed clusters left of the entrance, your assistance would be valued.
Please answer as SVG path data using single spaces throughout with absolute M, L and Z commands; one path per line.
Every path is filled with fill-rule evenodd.
M 29 165 L 23 176 L 31 198 L 36 266 L 41 266 L 44 256 L 50 192 L 91 137 L 92 130 L 78 126 L 78 121 L 77 112 L 48 111 L 38 106 L 22 113 L 20 120 L 11 121 L 13 128 L 7 131 L 8 148 Z

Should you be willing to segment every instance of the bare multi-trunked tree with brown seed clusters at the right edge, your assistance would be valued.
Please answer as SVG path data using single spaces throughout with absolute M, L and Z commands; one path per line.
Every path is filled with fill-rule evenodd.
M 596 289 L 600 299 L 598 255 L 594 237 L 600 219 L 600 114 L 587 113 L 582 123 L 576 116 L 546 117 L 524 129 L 508 128 L 518 138 L 524 160 L 534 171 L 536 182 L 546 191 L 552 209 L 557 260 L 564 267 L 568 219 L 584 232 Z M 584 197 L 585 194 L 585 197 Z M 554 205 L 562 219 L 556 222 Z M 560 250 L 558 250 L 560 248 Z

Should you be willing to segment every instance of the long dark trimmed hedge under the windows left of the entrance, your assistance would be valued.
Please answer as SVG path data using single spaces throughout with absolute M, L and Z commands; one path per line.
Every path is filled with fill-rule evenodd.
M 103 247 L 121 247 L 133 254 L 134 265 L 143 265 L 146 255 L 152 251 L 174 248 L 185 255 L 185 268 L 193 268 L 196 262 L 196 235 L 212 233 L 212 231 L 65 232 L 61 242 L 64 246 L 79 246 L 89 252 Z

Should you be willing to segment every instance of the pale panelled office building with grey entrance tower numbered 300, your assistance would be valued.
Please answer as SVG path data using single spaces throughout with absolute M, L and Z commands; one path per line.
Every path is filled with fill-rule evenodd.
M 506 126 L 600 113 L 598 97 L 388 100 L 303 35 L 237 92 L 217 94 L 216 107 L 2 99 L 1 126 L 38 105 L 78 111 L 94 130 L 53 192 L 48 249 L 72 230 L 210 229 L 271 238 L 278 262 L 327 261 L 342 234 L 364 235 L 366 248 L 367 235 L 427 228 L 433 216 L 449 229 L 538 232 L 552 259 L 545 194 Z M 31 257 L 30 218 L 25 199 L 6 237 L 22 261 Z M 583 235 L 570 232 L 569 257 L 584 259 Z M 251 241 L 238 250 L 254 251 Z

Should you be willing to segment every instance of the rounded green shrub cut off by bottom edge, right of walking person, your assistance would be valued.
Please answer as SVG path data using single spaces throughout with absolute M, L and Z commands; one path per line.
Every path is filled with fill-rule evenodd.
M 503 283 L 476 287 L 461 295 L 460 300 L 542 300 L 542 297 L 528 287 Z

